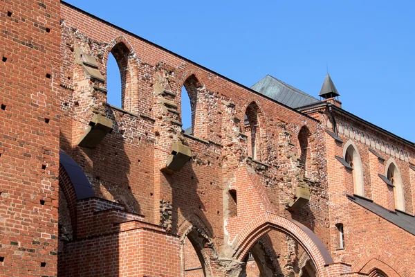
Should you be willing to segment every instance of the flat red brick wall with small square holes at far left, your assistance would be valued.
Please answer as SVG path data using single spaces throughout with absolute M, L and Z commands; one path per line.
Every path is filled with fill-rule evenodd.
M 59 10 L 57 0 L 0 3 L 3 276 L 56 274 Z

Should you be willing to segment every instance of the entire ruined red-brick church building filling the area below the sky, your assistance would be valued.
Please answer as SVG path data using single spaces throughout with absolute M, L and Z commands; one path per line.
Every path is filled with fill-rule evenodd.
M 337 100 L 282 105 L 68 3 L 0 7 L 5 276 L 415 276 L 414 143 Z

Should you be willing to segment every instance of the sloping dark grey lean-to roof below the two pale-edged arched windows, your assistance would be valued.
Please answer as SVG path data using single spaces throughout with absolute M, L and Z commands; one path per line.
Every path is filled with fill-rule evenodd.
M 392 224 L 395 224 L 396 226 L 404 229 L 405 231 L 412 233 L 412 235 L 415 235 L 415 217 L 413 217 L 412 215 L 408 215 L 407 213 L 401 213 L 399 211 L 389 211 L 387 208 L 383 208 L 379 204 L 376 204 L 369 199 L 358 197 L 357 195 L 347 195 L 347 197 L 351 201 L 362 206 L 363 208 L 367 208 L 367 210 L 371 211 L 372 213 L 376 213 L 376 215 L 379 215 L 385 220 L 391 222 Z

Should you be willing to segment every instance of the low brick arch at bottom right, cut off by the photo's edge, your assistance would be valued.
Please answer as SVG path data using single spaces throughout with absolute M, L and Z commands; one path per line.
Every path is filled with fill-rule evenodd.
M 369 274 L 375 268 L 378 268 L 388 274 L 389 277 L 412 277 L 411 272 L 405 267 L 405 264 L 396 259 L 391 253 L 380 248 L 372 248 L 363 252 L 352 265 L 352 272 L 362 272 Z M 391 272 L 395 275 L 389 275 Z

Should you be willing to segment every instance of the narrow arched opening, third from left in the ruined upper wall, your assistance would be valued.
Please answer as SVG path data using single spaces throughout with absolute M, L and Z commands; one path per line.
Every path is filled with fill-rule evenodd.
M 258 118 L 259 108 L 252 102 L 246 108 L 244 134 L 248 136 L 248 156 L 257 161 L 261 160 L 261 129 Z

